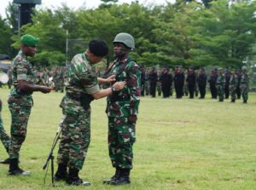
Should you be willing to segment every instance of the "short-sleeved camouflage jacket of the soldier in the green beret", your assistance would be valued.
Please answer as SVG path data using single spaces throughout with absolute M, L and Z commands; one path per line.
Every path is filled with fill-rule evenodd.
M 10 91 L 9 103 L 19 100 L 20 105 L 32 106 L 32 93 L 21 92 L 18 89 L 18 80 L 26 80 L 26 83 L 30 84 L 34 83 L 35 75 L 32 71 L 32 65 L 21 50 L 15 57 L 13 64 L 12 79 L 15 88 Z

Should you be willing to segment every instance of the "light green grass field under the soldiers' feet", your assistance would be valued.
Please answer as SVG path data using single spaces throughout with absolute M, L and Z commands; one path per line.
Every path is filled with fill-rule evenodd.
M 0 89 L 3 122 L 9 133 L 9 89 Z M 20 151 L 20 167 L 32 176 L 7 176 L 0 165 L 0 189 L 53 189 L 50 173 L 44 185 L 43 164 L 61 118 L 61 93 L 34 93 L 34 107 L 26 141 Z M 151 99 L 143 97 L 134 146 L 131 185 L 112 187 L 102 181 L 113 175 L 108 158 L 106 101 L 93 101 L 90 148 L 80 176 L 91 187 L 56 189 L 256 189 L 256 95 L 241 100 Z M 55 156 L 56 156 L 55 148 Z M 3 146 L 0 158 L 7 158 Z M 56 166 L 56 160 L 55 160 Z M 55 167 L 56 169 L 56 167 Z

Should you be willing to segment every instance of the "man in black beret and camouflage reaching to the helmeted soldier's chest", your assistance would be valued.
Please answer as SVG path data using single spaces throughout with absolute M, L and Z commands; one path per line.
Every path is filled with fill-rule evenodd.
M 99 84 L 112 83 L 115 76 L 97 78 L 96 63 L 108 55 L 103 41 L 92 40 L 85 53 L 75 55 L 68 72 L 66 95 L 62 98 L 62 135 L 58 152 L 58 170 L 55 180 L 65 180 L 70 185 L 88 186 L 90 182 L 79 178 L 84 158 L 90 144 L 90 101 L 120 90 L 125 82 L 114 83 L 112 88 L 100 89 Z M 68 173 L 67 173 L 68 168 Z

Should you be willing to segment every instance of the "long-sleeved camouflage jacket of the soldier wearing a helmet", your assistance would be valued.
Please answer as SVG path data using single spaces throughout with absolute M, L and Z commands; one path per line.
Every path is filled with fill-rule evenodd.
M 116 81 L 125 81 L 125 88 L 108 95 L 106 112 L 108 117 L 129 117 L 138 114 L 141 95 L 141 71 L 129 57 L 114 60 L 108 77 L 116 75 Z

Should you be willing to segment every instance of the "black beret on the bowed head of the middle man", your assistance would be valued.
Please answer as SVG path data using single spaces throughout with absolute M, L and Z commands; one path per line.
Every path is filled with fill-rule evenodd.
M 90 53 L 99 57 L 108 55 L 108 45 L 102 40 L 91 40 L 89 43 Z

